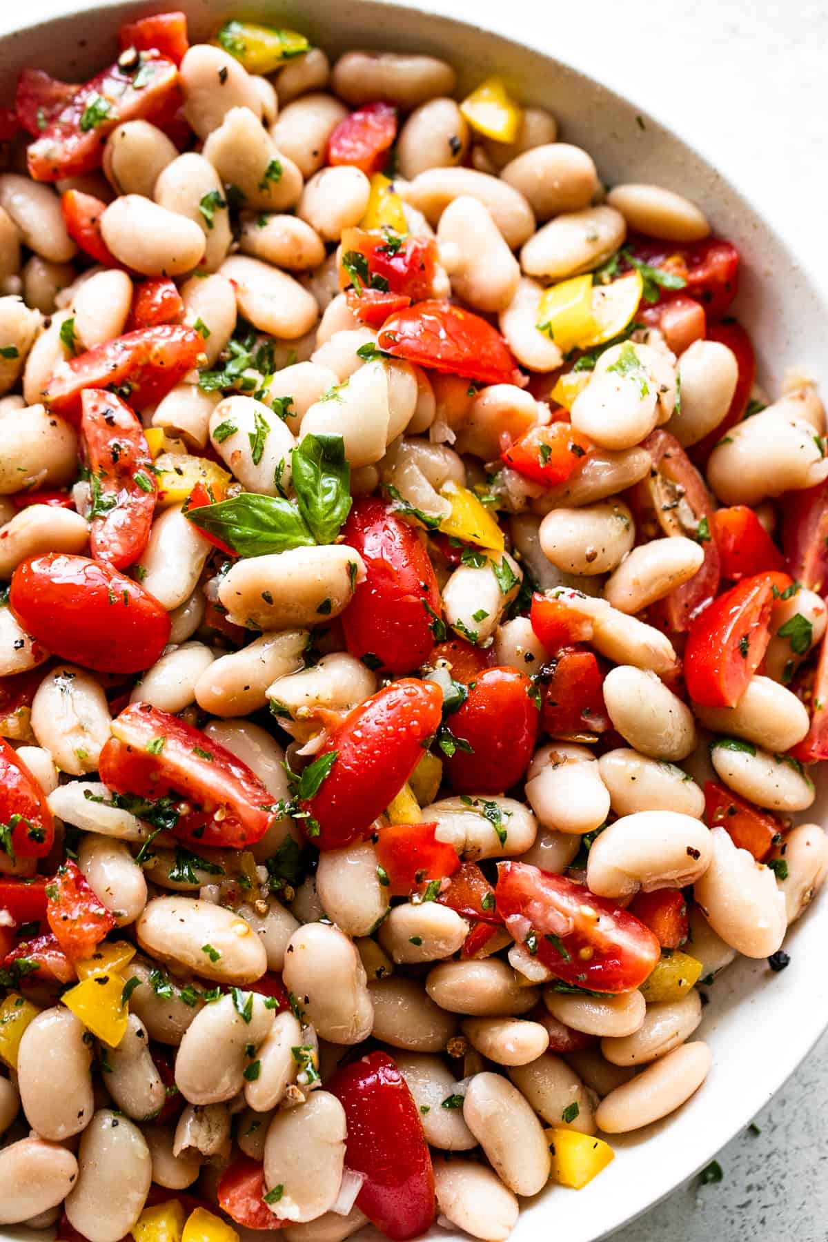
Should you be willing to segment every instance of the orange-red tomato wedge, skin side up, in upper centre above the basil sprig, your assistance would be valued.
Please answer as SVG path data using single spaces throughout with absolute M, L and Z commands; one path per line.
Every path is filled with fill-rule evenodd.
M 437 298 L 398 310 L 377 338 L 395 358 L 480 384 L 526 386 L 505 340 L 480 315 Z

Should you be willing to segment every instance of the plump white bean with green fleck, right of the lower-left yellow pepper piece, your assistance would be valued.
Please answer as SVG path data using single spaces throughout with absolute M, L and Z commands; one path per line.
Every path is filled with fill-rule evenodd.
M 154 897 L 138 919 L 135 933 L 140 946 L 160 961 L 222 984 L 248 984 L 267 970 L 264 945 L 251 925 L 210 902 Z

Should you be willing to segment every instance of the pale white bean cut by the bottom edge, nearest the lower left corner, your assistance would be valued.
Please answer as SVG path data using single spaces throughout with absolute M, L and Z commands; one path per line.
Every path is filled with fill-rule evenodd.
M 89 1242 L 118 1242 L 142 1213 L 153 1161 L 133 1122 L 98 1109 L 81 1139 L 78 1176 L 65 1211 Z

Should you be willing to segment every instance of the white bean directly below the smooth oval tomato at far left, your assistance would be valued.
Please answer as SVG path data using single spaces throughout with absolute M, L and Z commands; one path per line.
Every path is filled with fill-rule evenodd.
M 35 693 L 31 727 L 37 744 L 73 776 L 98 770 L 112 715 L 103 687 L 84 668 L 58 664 Z

